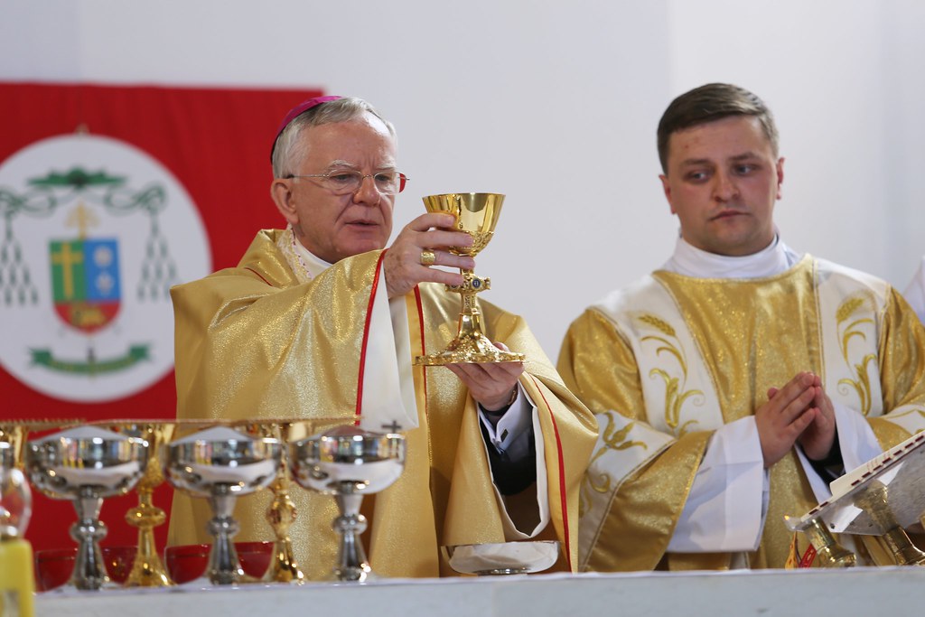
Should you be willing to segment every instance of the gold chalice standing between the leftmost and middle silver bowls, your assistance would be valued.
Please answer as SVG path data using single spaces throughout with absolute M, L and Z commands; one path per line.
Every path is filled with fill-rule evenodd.
M 138 505 L 125 513 L 126 522 L 138 528 L 138 551 L 125 586 L 173 585 L 154 543 L 154 527 L 166 522 L 166 512 L 154 505 L 153 495 L 154 488 L 164 482 L 161 448 L 170 441 L 176 423 L 168 420 L 118 420 L 105 424 L 118 433 L 148 442 L 148 463 L 135 488 Z

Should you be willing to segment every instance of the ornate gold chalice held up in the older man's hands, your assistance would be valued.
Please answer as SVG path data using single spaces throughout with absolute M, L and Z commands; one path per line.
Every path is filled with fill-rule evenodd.
M 456 228 L 473 238 L 469 247 L 450 248 L 450 253 L 475 257 L 495 234 L 504 195 L 493 192 L 463 192 L 429 195 L 424 198 L 427 212 L 445 213 L 456 217 Z M 475 294 L 491 289 L 491 279 L 475 275 L 473 270 L 461 268 L 462 285 L 447 285 L 448 291 L 462 296 L 459 333 L 442 352 L 419 355 L 414 364 L 443 366 L 445 364 L 476 364 L 497 362 L 523 362 L 524 354 L 505 352 L 482 333 L 482 313 Z

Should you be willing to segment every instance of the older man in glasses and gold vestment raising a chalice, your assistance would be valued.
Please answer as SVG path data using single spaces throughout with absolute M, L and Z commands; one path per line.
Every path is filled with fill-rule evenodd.
M 472 239 L 445 214 L 414 218 L 386 250 L 408 181 L 391 123 L 361 99 L 311 99 L 283 119 L 271 159 L 287 226 L 259 231 L 237 267 L 172 290 L 178 417 L 401 430 L 400 479 L 363 504 L 377 574 L 451 574 L 441 546 L 528 539 L 559 540 L 556 567 L 573 570 L 594 418 L 524 321 L 487 302 L 487 336 L 524 363 L 413 366 L 455 334 L 459 296 L 443 284 L 461 284 L 450 268 L 475 262 L 450 252 Z M 324 578 L 337 554 L 334 500 L 290 494 L 297 561 Z M 239 501 L 234 539 L 274 539 L 269 495 Z M 168 543 L 208 541 L 209 517 L 177 493 Z

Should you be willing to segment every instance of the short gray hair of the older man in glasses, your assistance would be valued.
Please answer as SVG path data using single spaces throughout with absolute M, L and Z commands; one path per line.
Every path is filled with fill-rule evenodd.
M 382 117 L 373 105 L 361 98 L 346 96 L 336 101 L 315 105 L 295 117 L 285 129 L 280 131 L 273 148 L 274 178 L 285 178 L 292 175 L 298 163 L 307 154 L 308 146 L 299 139 L 303 129 L 334 122 L 349 122 L 362 118 L 365 114 L 372 114 L 382 120 L 392 139 L 396 138 L 395 127 L 392 123 Z

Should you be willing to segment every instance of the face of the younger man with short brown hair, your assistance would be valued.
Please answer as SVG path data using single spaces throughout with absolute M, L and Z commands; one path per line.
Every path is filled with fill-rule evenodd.
M 685 241 L 733 256 L 771 244 L 783 158 L 758 118 L 725 117 L 672 133 L 667 167 L 661 184 Z

